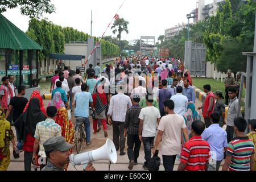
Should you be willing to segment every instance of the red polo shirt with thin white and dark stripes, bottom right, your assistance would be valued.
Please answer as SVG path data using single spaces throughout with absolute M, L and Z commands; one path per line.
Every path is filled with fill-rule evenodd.
M 202 137 L 192 137 L 182 149 L 180 162 L 186 164 L 185 171 L 205 171 L 209 158 L 209 143 Z

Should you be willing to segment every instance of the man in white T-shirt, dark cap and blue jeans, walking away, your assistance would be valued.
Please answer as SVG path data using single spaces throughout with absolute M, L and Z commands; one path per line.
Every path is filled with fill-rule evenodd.
M 141 110 L 139 114 L 139 139 L 143 142 L 145 160 L 143 164 L 144 169 L 148 169 L 147 164 L 151 159 L 151 144 L 154 142 L 156 135 L 156 122 L 160 122 L 160 113 L 152 103 L 154 101 L 154 96 L 146 96 L 147 107 Z

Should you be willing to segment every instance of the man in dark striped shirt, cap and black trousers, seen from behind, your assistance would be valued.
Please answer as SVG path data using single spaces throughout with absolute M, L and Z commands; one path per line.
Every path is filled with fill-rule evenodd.
M 127 152 L 129 162 L 129 169 L 133 169 L 134 165 L 137 165 L 137 159 L 139 157 L 139 149 L 141 148 L 141 140 L 139 140 L 139 113 L 141 113 L 142 107 L 139 106 L 141 97 L 139 95 L 133 95 L 133 106 L 131 106 L 125 117 L 125 133 L 127 137 Z

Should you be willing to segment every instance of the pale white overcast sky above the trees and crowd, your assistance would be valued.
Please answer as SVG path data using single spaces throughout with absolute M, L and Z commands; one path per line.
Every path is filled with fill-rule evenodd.
M 52 0 L 56 13 L 44 14 L 51 22 L 63 27 L 73 27 L 90 34 L 91 10 L 93 10 L 92 36 L 100 37 L 124 0 Z M 120 18 L 129 22 L 129 34 L 122 39 L 134 40 L 141 36 L 164 35 L 164 30 L 187 23 L 186 15 L 196 8 L 198 0 L 126 0 L 118 11 Z M 205 4 L 213 0 L 205 0 Z M 20 14 L 19 8 L 7 10 L 3 15 L 22 31 L 27 31 L 28 16 Z M 116 36 L 111 26 L 105 35 Z

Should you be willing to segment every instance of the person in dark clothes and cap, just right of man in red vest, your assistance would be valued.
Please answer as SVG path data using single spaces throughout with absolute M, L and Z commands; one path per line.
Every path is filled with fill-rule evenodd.
M 225 105 L 223 103 L 224 97 L 221 91 L 214 92 L 214 98 L 216 99 L 216 103 L 214 105 L 213 112 L 217 112 L 220 114 L 220 126 L 226 125 L 225 122 Z

